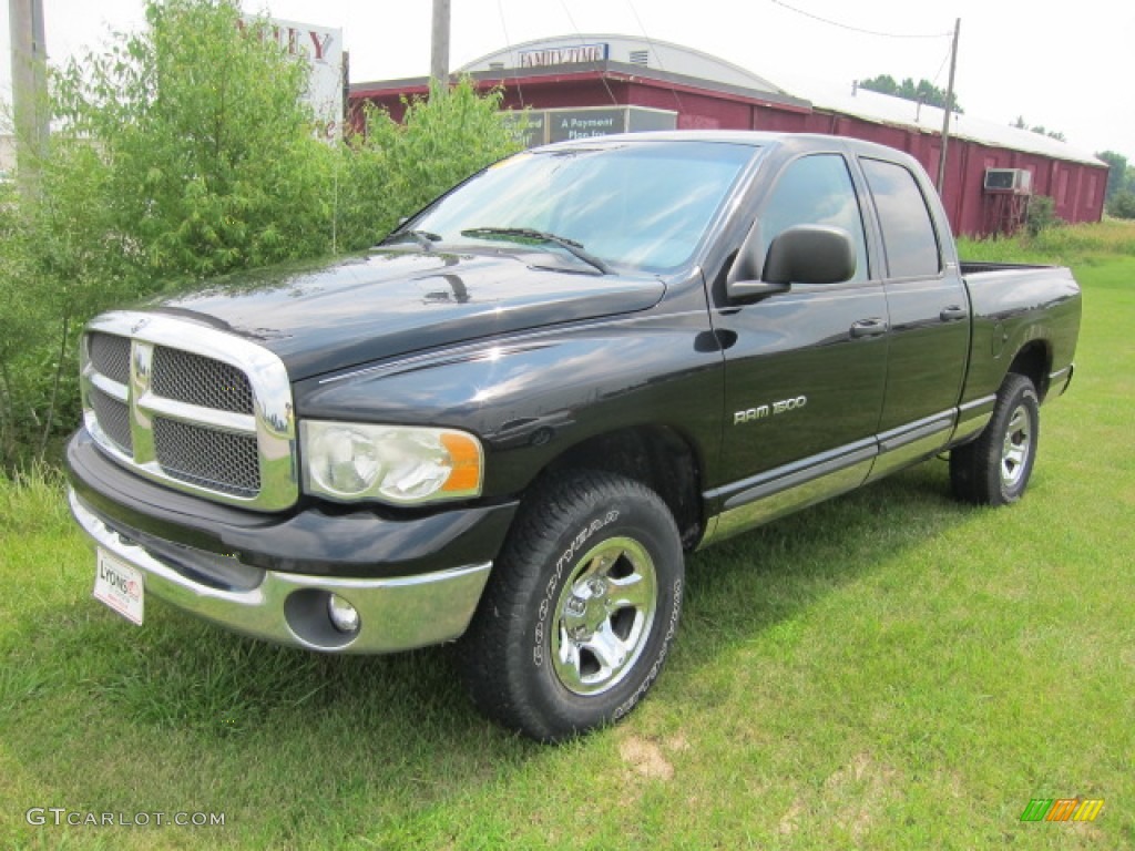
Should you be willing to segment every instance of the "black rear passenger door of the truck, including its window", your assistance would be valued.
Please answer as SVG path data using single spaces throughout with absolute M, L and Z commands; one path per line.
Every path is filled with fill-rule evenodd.
M 969 300 L 947 264 L 923 187 L 906 166 L 859 159 L 882 231 L 891 320 L 886 394 L 878 426 L 883 474 L 941 448 L 950 436 L 969 352 Z

